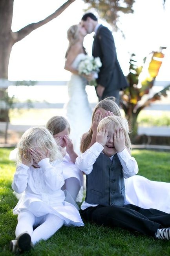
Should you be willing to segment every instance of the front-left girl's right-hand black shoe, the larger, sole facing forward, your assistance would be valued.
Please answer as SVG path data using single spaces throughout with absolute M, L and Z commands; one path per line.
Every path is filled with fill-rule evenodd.
M 21 234 L 17 238 L 17 246 L 20 251 L 28 251 L 31 249 L 31 236 L 28 233 Z

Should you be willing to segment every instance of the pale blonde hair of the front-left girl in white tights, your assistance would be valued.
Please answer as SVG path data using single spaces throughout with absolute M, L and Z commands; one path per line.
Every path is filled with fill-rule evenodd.
M 18 145 L 18 162 L 22 160 L 27 149 L 40 147 L 49 151 L 50 161 L 62 160 L 61 147 L 57 145 L 49 130 L 43 126 L 29 128 L 22 135 Z

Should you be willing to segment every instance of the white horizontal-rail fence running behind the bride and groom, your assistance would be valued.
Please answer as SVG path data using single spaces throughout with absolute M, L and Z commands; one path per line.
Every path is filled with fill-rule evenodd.
M 29 81 L 26 81 L 29 82 Z M 22 82 L 23 84 L 23 82 Z M 170 81 L 155 81 L 154 86 L 152 87 L 154 89 L 154 92 L 159 92 L 161 89 L 166 87 L 170 84 Z M 66 86 L 67 81 L 35 81 L 34 85 L 40 85 L 40 86 Z M 16 81 L 8 81 L 0 79 L 0 88 L 7 88 L 9 86 L 15 86 L 17 88 L 20 87 L 20 85 L 16 86 Z M 31 85 L 30 85 L 31 86 Z M 31 86 L 32 87 L 32 86 Z M 159 102 L 159 103 L 157 103 Z M 153 102 L 149 107 L 144 108 L 144 110 L 162 110 L 162 111 L 170 111 L 170 93 L 168 95 L 168 99 L 163 101 L 157 101 Z M 91 108 L 93 109 L 97 102 L 90 102 Z M 64 106 L 64 102 L 58 102 L 58 103 L 49 103 L 49 102 L 31 102 L 31 107 L 35 109 L 49 109 L 49 108 L 58 108 L 62 109 Z M 25 102 L 16 103 L 16 108 L 28 108 L 28 105 Z M 3 122 L 0 122 L 0 130 L 4 130 L 5 124 Z M 28 128 L 28 126 L 24 125 L 12 125 L 9 124 L 9 129 L 12 130 L 18 130 L 18 131 L 24 131 Z M 139 126 L 138 134 L 146 134 L 146 135 L 159 135 L 159 136 L 170 136 L 170 128 L 169 127 L 141 127 Z

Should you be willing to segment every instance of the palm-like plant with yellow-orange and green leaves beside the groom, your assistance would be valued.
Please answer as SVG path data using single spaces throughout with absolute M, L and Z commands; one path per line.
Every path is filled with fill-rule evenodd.
M 137 117 L 140 111 L 149 106 L 151 102 L 160 100 L 161 95 L 167 96 L 166 92 L 170 89 L 170 85 L 168 85 L 159 93 L 148 95 L 161 67 L 164 49 L 165 47 L 161 47 L 159 51 L 151 52 L 147 58 L 144 58 L 142 66 L 137 65 L 135 54 L 132 54 L 130 59 L 130 72 L 127 76 L 130 86 L 124 90 L 121 106 L 132 130 L 131 140 L 133 143 L 137 135 Z

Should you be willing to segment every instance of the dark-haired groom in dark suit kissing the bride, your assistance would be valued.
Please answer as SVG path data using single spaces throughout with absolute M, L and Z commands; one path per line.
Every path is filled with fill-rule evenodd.
M 119 102 L 119 91 L 129 85 L 117 60 L 112 32 L 99 24 L 93 13 L 84 14 L 81 24 L 88 34 L 95 32 L 92 55 L 99 56 L 102 62 L 95 87 L 99 101 L 114 96 Z

